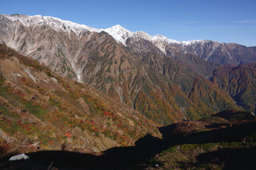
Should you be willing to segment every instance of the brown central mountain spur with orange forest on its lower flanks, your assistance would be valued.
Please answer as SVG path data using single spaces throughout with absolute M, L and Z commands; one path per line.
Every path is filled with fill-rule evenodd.
M 90 63 L 84 67 L 82 80 L 150 119 L 168 125 L 239 108 L 192 68 L 154 53 L 134 54 L 106 33 L 98 37 L 105 39 L 88 56 Z

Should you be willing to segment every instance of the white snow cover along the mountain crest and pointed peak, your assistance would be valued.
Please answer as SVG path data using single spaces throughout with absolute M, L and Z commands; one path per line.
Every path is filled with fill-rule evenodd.
M 6 18 L 12 21 L 20 21 L 26 27 L 30 27 L 31 25 L 46 23 L 47 25 L 51 26 L 55 30 L 62 30 L 68 33 L 70 33 L 70 31 L 72 30 L 77 35 L 79 35 L 85 30 L 91 31 L 91 32 L 105 31 L 109 33 L 112 37 L 114 37 L 114 39 L 118 43 L 122 43 L 123 45 L 126 45 L 125 42 L 130 37 L 145 39 L 158 44 L 160 43 L 160 41 L 164 41 L 165 43 L 168 43 L 168 44 L 177 43 L 182 45 L 191 45 L 201 41 L 202 42 L 207 41 L 207 40 L 176 41 L 174 39 L 168 39 L 167 37 L 164 37 L 163 35 L 160 35 L 160 34 L 151 36 L 144 31 L 132 32 L 122 27 L 121 25 L 114 25 L 113 27 L 106 28 L 106 29 L 97 29 L 97 28 L 89 27 L 87 25 L 74 23 L 72 21 L 61 20 L 59 18 L 55 18 L 51 16 L 40 16 L 40 15 L 26 16 L 26 15 L 20 15 L 20 14 L 3 15 L 3 16 L 5 16 Z

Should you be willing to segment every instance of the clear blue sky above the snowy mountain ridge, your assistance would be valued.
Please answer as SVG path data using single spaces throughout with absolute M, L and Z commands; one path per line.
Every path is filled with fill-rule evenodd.
M 0 13 L 256 46 L 256 0 L 0 0 Z

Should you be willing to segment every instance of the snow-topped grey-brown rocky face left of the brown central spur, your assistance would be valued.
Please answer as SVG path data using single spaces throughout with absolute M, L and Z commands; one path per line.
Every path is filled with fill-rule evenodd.
M 50 66 L 51 70 L 62 76 L 80 80 L 81 69 L 78 60 L 89 39 L 94 39 L 94 29 L 70 21 L 42 16 L 0 16 L 0 37 L 8 47 Z M 90 53 L 102 39 L 88 45 Z M 82 59 L 81 59 L 82 58 Z

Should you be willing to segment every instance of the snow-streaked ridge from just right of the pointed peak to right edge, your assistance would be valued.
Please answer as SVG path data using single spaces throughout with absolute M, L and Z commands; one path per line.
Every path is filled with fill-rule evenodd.
M 171 57 L 174 57 L 176 53 L 190 53 L 205 61 L 217 64 L 237 66 L 256 62 L 254 47 L 246 47 L 236 43 L 219 43 L 211 40 L 175 41 L 162 35 L 150 36 L 145 32 L 137 31 L 126 39 L 126 44 L 139 53 L 157 51 L 157 48 L 158 51 L 160 50 Z

